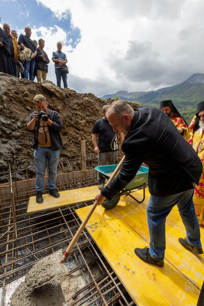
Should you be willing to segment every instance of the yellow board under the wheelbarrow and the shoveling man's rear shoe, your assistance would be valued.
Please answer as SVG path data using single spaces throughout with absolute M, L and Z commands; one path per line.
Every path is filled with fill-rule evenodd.
M 142 191 L 132 194 L 138 199 L 142 199 Z M 123 196 L 114 209 L 114 215 L 129 224 L 133 230 L 141 235 L 149 243 L 149 232 L 147 225 L 146 207 L 149 200 L 149 193 L 143 203 L 138 204 L 129 196 Z M 186 277 L 189 278 L 199 289 L 202 287 L 204 279 L 204 254 L 194 254 L 186 250 L 180 243 L 179 238 L 185 238 L 185 226 L 180 217 L 177 206 L 175 206 L 166 220 L 166 251 L 165 258 Z M 201 243 L 204 247 L 204 228 L 200 226 Z M 148 245 L 144 243 L 143 247 Z M 135 245 L 137 247 L 137 245 Z

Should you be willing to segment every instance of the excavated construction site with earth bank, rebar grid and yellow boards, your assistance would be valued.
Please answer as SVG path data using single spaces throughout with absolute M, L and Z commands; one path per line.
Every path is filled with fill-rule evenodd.
M 149 244 L 148 170 L 139 184 L 124 190 L 115 208 L 96 207 L 66 262 L 59 264 L 98 192 L 91 129 L 107 101 L 50 82 L 3 73 L 0 78 L 1 306 L 197 305 L 204 255 L 181 247 L 185 227 L 177 207 L 166 220 L 164 267 L 135 256 L 136 246 Z M 60 198 L 48 194 L 46 173 L 41 204 L 35 201 L 32 135 L 25 129 L 37 93 L 64 125 L 56 184 Z M 122 157 L 119 147 L 118 162 Z M 200 232 L 204 245 L 203 226 Z

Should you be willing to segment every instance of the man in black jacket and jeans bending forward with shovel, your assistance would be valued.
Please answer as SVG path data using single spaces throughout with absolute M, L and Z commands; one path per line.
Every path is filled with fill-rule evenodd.
M 147 206 L 149 247 L 135 248 L 147 263 L 164 265 L 165 221 L 177 205 L 186 227 L 187 238 L 179 238 L 186 249 L 202 254 L 200 229 L 193 205 L 194 187 L 199 182 L 202 164 L 189 143 L 181 137 L 164 112 L 143 105 L 137 111 L 125 101 L 114 101 L 107 111 L 114 131 L 127 133 L 122 143 L 125 154 L 115 179 L 95 197 L 98 205 L 109 200 L 135 176 L 142 162 L 149 166 L 150 199 Z

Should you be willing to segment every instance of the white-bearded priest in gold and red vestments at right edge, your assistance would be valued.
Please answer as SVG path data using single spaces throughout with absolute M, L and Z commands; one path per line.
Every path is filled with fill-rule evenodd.
M 197 111 L 193 122 L 193 133 L 189 139 L 189 143 L 196 151 L 203 166 L 204 159 L 204 101 L 201 101 L 197 105 Z M 195 206 L 195 212 L 198 217 L 199 224 L 204 225 L 204 171 L 200 176 L 199 184 L 195 186 L 193 202 Z

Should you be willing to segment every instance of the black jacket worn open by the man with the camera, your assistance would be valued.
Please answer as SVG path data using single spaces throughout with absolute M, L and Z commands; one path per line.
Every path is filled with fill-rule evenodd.
M 34 113 L 31 114 L 29 122 L 33 119 Z M 52 149 L 58 150 L 62 147 L 62 139 L 60 136 L 60 132 L 62 131 L 62 120 L 60 118 L 60 115 L 56 111 L 50 111 L 48 110 L 47 114 L 48 118 L 53 121 L 51 126 L 48 126 L 48 131 L 49 131 L 49 136 L 50 136 L 50 141 L 52 144 Z M 28 122 L 28 123 L 29 123 Z M 37 149 L 38 147 L 38 140 L 37 140 L 37 131 L 40 126 L 40 120 L 36 120 L 35 122 L 35 129 L 33 131 L 29 130 L 27 127 L 27 130 L 31 133 L 34 133 L 33 136 L 33 148 Z

